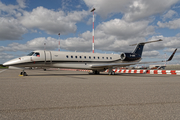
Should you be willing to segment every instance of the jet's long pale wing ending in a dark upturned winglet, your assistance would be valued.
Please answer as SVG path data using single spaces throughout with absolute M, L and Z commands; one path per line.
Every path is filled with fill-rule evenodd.
M 174 50 L 174 52 L 169 57 L 169 59 L 165 60 L 165 61 L 162 60 L 162 61 L 149 61 L 149 62 L 107 63 L 107 64 L 90 65 L 90 67 L 91 68 L 110 68 L 110 67 L 124 67 L 124 66 L 130 66 L 130 65 L 135 65 L 135 64 L 149 64 L 149 63 L 167 62 L 167 61 L 172 60 L 176 51 L 177 51 L 177 48 Z

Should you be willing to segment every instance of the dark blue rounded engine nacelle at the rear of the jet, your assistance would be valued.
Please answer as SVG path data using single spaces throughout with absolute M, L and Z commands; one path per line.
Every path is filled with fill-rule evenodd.
M 122 53 L 120 58 L 122 61 L 135 61 L 141 59 L 141 56 L 134 53 Z

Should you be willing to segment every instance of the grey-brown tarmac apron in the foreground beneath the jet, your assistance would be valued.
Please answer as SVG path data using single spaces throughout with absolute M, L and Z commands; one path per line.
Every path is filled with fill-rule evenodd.
M 0 69 L 0 120 L 179 120 L 180 76 Z

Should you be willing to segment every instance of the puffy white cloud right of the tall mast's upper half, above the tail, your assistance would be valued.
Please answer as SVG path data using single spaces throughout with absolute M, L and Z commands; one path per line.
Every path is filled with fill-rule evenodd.
M 126 22 L 114 19 L 98 25 L 97 30 L 104 31 L 107 35 L 118 36 L 119 39 L 129 39 L 154 34 L 154 26 L 148 24 L 149 21 Z

